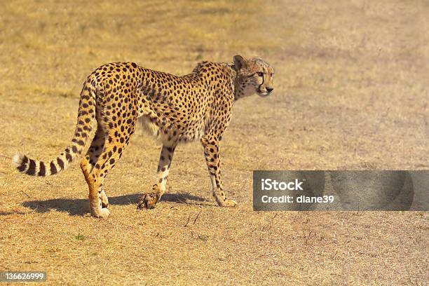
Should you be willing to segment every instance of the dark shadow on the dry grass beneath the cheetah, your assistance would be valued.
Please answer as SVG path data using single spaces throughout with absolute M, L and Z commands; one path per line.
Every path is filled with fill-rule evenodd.
M 130 195 L 109 197 L 111 205 L 132 205 L 136 204 L 142 196 L 141 193 L 132 193 Z M 189 193 L 164 193 L 161 202 L 171 203 L 188 203 L 187 200 L 204 201 L 204 198 L 193 196 Z M 50 210 L 59 212 L 68 212 L 70 215 L 83 215 L 89 212 L 88 200 L 81 198 L 55 198 L 53 200 L 29 200 L 22 203 L 23 206 L 32 210 L 43 213 Z M 0 215 L 12 214 L 0 212 Z

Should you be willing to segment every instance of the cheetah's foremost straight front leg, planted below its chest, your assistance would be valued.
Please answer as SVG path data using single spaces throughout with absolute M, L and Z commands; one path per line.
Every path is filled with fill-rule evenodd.
M 205 162 L 212 181 L 212 193 L 217 205 L 221 207 L 235 207 L 235 200 L 226 198 L 225 191 L 222 186 L 222 175 L 220 170 L 219 147 L 220 141 L 215 137 L 203 137 L 201 143 L 204 147 Z

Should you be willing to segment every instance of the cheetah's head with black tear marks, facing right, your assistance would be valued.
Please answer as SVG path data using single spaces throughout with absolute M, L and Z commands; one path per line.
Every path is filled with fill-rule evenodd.
M 273 90 L 274 69 L 259 57 L 250 60 L 241 55 L 233 57 L 237 71 L 236 97 L 246 97 L 257 93 L 260 97 L 268 96 Z

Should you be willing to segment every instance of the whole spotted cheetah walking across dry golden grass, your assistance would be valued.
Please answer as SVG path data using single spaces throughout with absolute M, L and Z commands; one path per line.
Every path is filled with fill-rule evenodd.
M 242 97 L 268 96 L 273 91 L 274 70 L 259 57 L 241 55 L 233 62 L 200 62 L 191 74 L 175 76 L 139 67 L 134 62 L 114 62 L 95 69 L 83 83 L 74 137 L 49 163 L 26 155 L 13 158 L 19 172 L 32 176 L 55 175 L 82 157 L 81 169 L 89 188 L 90 213 L 107 218 L 109 200 L 104 178 L 121 158 L 135 125 L 162 143 L 157 182 L 144 193 L 138 208 L 151 209 L 161 199 L 175 148 L 200 141 L 217 205 L 233 207 L 226 198 L 220 169 L 220 142 L 231 121 L 233 104 Z M 85 153 L 86 151 L 86 153 Z

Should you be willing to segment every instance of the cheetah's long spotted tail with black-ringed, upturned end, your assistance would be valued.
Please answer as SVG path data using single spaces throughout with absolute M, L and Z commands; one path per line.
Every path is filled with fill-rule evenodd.
M 93 83 L 93 84 L 92 84 Z M 75 158 L 81 156 L 86 149 L 88 142 L 92 138 L 92 130 L 96 128 L 97 120 L 95 119 L 95 81 L 86 79 L 81 92 L 79 101 L 79 114 L 77 118 L 76 130 L 74 132 L 71 144 L 57 158 L 49 163 L 36 161 L 26 155 L 16 154 L 13 156 L 13 165 L 18 171 L 27 175 L 44 177 L 55 175 L 65 170 Z

